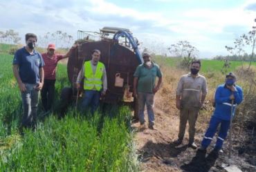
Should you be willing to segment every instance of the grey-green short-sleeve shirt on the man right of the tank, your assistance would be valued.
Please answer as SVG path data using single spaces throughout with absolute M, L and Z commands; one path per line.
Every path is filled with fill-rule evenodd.
M 145 64 L 140 64 L 136 68 L 134 77 L 138 77 L 138 92 L 153 93 L 156 77 L 162 77 L 162 73 L 157 64 L 153 63 L 152 68 L 147 68 Z

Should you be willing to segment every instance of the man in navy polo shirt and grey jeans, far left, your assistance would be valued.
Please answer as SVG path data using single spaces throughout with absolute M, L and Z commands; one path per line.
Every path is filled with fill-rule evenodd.
M 27 33 L 25 39 L 26 46 L 15 52 L 12 70 L 21 91 L 24 108 L 22 126 L 31 127 L 36 122 L 39 90 L 44 85 L 44 60 L 41 54 L 34 50 L 37 36 Z

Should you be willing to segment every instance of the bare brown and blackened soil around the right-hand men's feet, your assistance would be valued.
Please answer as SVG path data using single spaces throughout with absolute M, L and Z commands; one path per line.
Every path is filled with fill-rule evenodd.
M 156 101 L 158 100 L 160 97 L 156 95 Z M 166 113 L 156 103 L 154 130 L 147 126 L 141 127 L 139 122 L 132 124 L 136 131 L 136 149 L 140 161 L 140 171 L 225 171 L 223 166 L 228 166 L 229 162 L 227 141 L 224 143 L 223 153 L 219 153 L 219 155 L 212 152 L 216 140 L 212 140 L 207 153 L 190 148 L 187 145 L 188 131 L 186 131 L 181 145 L 173 144 L 179 133 L 179 111 L 174 106 L 170 108 L 171 110 Z M 145 120 L 147 120 L 147 113 L 145 113 Z M 199 122 L 205 122 L 205 117 L 200 114 L 196 124 L 195 143 L 197 146 L 200 146 L 208 126 L 208 121 L 205 122 L 205 125 L 198 125 Z M 234 138 L 232 138 L 230 164 L 244 172 L 256 172 L 256 132 L 253 133 L 253 127 L 247 127 L 239 134 L 238 127 L 235 124 L 233 126 Z

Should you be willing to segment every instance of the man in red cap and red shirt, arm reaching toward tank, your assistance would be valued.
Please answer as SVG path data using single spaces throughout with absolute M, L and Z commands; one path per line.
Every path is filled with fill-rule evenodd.
M 55 49 L 55 44 L 49 44 L 47 52 L 42 54 L 45 65 L 44 86 L 42 88 L 41 97 L 45 111 L 49 111 L 52 108 L 55 93 L 57 63 L 61 59 L 68 57 L 71 54 L 72 48 L 66 53 L 66 55 L 55 54 Z

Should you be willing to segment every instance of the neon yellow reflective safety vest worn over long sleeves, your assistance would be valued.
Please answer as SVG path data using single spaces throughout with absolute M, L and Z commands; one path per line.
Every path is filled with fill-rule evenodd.
M 84 90 L 100 90 L 102 88 L 103 70 L 104 64 L 98 61 L 95 74 L 93 74 L 91 61 L 84 62 Z

